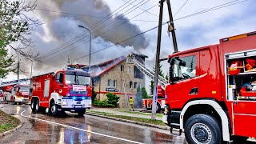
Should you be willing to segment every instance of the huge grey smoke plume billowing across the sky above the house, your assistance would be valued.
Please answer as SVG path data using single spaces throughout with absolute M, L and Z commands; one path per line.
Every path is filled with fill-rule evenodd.
M 107 6 L 106 2 L 103 2 L 102 0 L 40 0 L 37 2 L 38 9 L 64 11 L 74 14 L 94 15 L 98 17 L 105 17 L 111 13 L 110 7 Z M 52 13 L 43 10 L 35 10 L 34 17 L 38 18 L 41 22 L 45 22 L 45 24 L 38 27 L 38 29 L 34 31 L 34 34 L 32 34 L 35 41 L 35 51 L 39 50 L 42 56 L 45 56 L 44 54 L 62 45 L 71 38 L 74 38 L 76 35 L 81 34 L 85 29 L 79 28 L 78 25 L 90 28 L 95 26 L 95 23 L 102 19 Z M 91 30 L 93 34 L 92 52 L 102 50 L 142 32 L 139 30 L 138 26 L 129 22 L 129 20 L 122 17 L 122 15 L 114 15 L 112 18 L 107 19 L 107 22 L 112 21 L 115 17 L 122 18 L 122 20 L 114 21 L 110 26 L 104 26 L 97 31 L 95 30 L 99 27 L 95 30 Z M 126 24 L 118 26 L 124 21 L 127 21 Z M 110 30 L 112 28 L 115 29 L 102 35 L 102 33 L 106 32 L 106 30 Z M 89 36 L 87 38 L 80 38 L 80 40 L 73 46 L 69 46 L 57 54 L 44 58 L 43 62 L 34 62 L 34 74 L 43 74 L 62 69 L 62 67 L 66 66 L 68 58 L 73 60 L 73 63 L 88 64 L 89 57 L 78 60 L 76 59 L 82 57 L 83 55 L 89 54 L 89 42 L 79 46 L 82 44 L 82 42 L 88 41 L 89 38 Z M 108 50 L 102 50 L 97 54 L 93 54 L 91 56 L 91 63 L 95 64 L 105 62 L 112 58 L 117 58 L 121 55 L 134 52 L 134 50 L 144 50 L 148 46 L 148 43 L 149 42 L 145 36 L 141 35 L 140 37 L 130 39 L 125 43 L 112 46 Z M 25 65 L 23 69 L 29 71 L 30 66 Z

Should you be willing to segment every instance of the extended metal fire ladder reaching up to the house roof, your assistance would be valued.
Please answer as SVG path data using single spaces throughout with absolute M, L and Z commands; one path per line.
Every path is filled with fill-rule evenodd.
M 138 62 L 138 60 L 134 57 L 134 54 L 129 54 L 127 59 L 127 63 L 132 63 L 134 66 L 137 66 L 138 70 L 140 70 L 143 74 L 146 74 L 152 81 L 154 81 L 154 71 L 147 68 L 145 65 L 143 65 L 141 62 Z M 158 83 L 162 86 L 162 89 L 165 89 L 166 84 L 168 83 L 166 78 L 163 78 L 162 76 L 158 75 Z

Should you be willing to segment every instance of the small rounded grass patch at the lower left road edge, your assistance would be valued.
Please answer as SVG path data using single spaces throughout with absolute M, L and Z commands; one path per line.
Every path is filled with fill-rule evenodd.
M 10 116 L 0 110 L 0 133 L 14 129 L 20 124 L 17 118 Z

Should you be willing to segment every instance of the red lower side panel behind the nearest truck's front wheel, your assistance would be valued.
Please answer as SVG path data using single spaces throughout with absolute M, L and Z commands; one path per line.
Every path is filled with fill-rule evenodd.
M 233 102 L 233 132 L 235 135 L 256 138 L 256 102 Z

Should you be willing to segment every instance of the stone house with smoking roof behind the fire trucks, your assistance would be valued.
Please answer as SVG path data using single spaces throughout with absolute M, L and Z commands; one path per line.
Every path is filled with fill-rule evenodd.
M 143 64 L 147 58 L 143 54 L 135 54 L 135 57 Z M 94 77 L 96 98 L 102 101 L 107 93 L 117 94 L 120 107 L 126 106 L 129 96 L 134 96 L 138 87 L 145 86 L 144 74 L 134 64 L 127 63 L 126 56 L 90 66 L 90 71 Z

